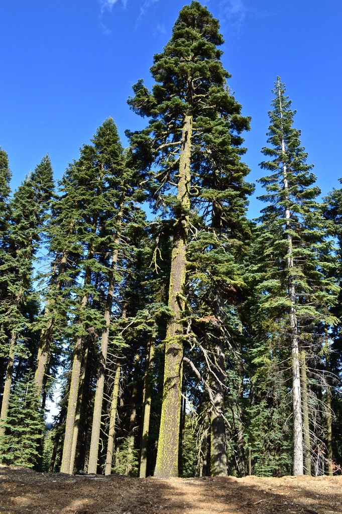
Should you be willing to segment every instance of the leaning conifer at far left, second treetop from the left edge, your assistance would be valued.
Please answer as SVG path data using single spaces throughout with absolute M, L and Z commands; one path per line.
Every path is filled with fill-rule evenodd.
M 15 191 L 10 202 L 10 222 L 6 261 L 1 270 L 6 276 L 8 294 L 0 306 L 2 324 L 8 333 L 7 371 L 0 418 L 8 413 L 15 353 L 26 355 L 25 338 L 17 345 L 29 323 L 28 309 L 32 304 L 32 267 L 38 251 L 41 233 L 48 217 L 53 195 L 52 168 L 46 155 Z M 0 429 L 4 434 L 4 428 Z

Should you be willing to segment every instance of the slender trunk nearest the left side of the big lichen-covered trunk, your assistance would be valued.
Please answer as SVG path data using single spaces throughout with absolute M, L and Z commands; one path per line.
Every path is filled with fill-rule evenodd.
M 143 422 L 142 422 L 142 437 L 141 437 L 141 452 L 140 452 L 140 469 L 139 477 L 146 478 L 147 470 L 147 450 L 149 442 L 150 430 L 150 415 L 151 415 L 151 400 L 152 400 L 152 372 L 154 366 L 154 345 L 155 340 L 151 335 L 149 340 L 149 347 L 147 352 L 146 372 L 144 377 L 144 394 L 143 394 Z

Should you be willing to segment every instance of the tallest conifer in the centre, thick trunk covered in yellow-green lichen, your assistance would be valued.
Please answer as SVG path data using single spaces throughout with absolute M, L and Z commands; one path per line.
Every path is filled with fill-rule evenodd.
M 182 394 L 183 343 L 186 340 L 187 247 L 190 218 L 205 201 L 220 193 L 215 179 L 239 188 L 248 168 L 240 162 L 240 133 L 249 119 L 230 93 L 228 72 L 221 63 L 223 43 L 219 22 L 206 7 L 193 1 L 179 12 L 172 37 L 151 67 L 155 84 L 150 92 L 140 80 L 131 108 L 151 118 L 140 133 L 130 134 L 137 163 L 151 170 L 151 193 L 157 206 L 170 213 L 173 250 L 166 334 L 163 407 L 155 475 L 178 474 L 178 434 Z M 208 176 L 212 178 L 207 186 Z M 229 179 L 227 178 L 229 177 Z M 223 182 L 222 182 L 222 180 Z M 210 180 L 209 180 L 210 182 Z M 173 194 L 175 189 L 175 194 Z M 219 188 L 221 189 L 221 188 Z M 221 194 L 227 194 L 222 187 Z

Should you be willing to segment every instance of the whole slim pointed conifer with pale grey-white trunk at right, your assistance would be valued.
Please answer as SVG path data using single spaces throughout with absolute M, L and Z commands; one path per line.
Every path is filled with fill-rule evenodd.
M 331 242 L 316 197 L 319 188 L 313 166 L 293 127 L 295 111 L 278 78 L 273 90 L 271 125 L 262 153 L 269 158 L 260 166 L 270 172 L 259 179 L 267 202 L 254 249 L 259 261 L 260 308 L 283 327 L 283 339 L 291 348 L 293 398 L 293 473 L 303 474 L 303 378 L 302 351 L 315 336 L 313 325 L 334 322 L 327 307 L 336 301 L 338 287 L 329 277 L 333 266 Z M 286 328 L 289 327 L 289 328 Z M 303 363 L 302 363 L 303 367 Z M 306 470 L 310 474 L 310 469 Z

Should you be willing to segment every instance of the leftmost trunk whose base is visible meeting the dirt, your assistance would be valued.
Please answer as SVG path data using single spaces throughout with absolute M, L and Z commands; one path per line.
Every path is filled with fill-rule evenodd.
M 93 252 L 91 250 L 89 250 L 87 258 L 91 259 L 92 256 L 93 256 Z M 91 275 L 92 275 L 91 270 L 89 268 L 86 268 L 85 277 L 84 277 L 84 285 L 90 284 Z M 85 309 L 87 304 L 88 304 L 88 295 L 84 295 L 82 298 L 82 301 L 81 301 L 81 308 Z M 66 423 L 65 423 L 65 435 L 64 435 L 61 473 L 70 473 L 71 450 L 73 447 L 73 433 L 74 433 L 76 407 L 77 407 L 77 400 L 78 400 L 78 388 L 79 388 L 79 381 L 80 381 L 80 374 L 81 374 L 81 362 L 82 362 L 82 336 L 78 336 L 76 338 L 76 343 L 75 343 L 73 370 L 71 371 L 71 381 L 70 381 L 68 410 L 67 410 L 67 414 L 66 414 Z

